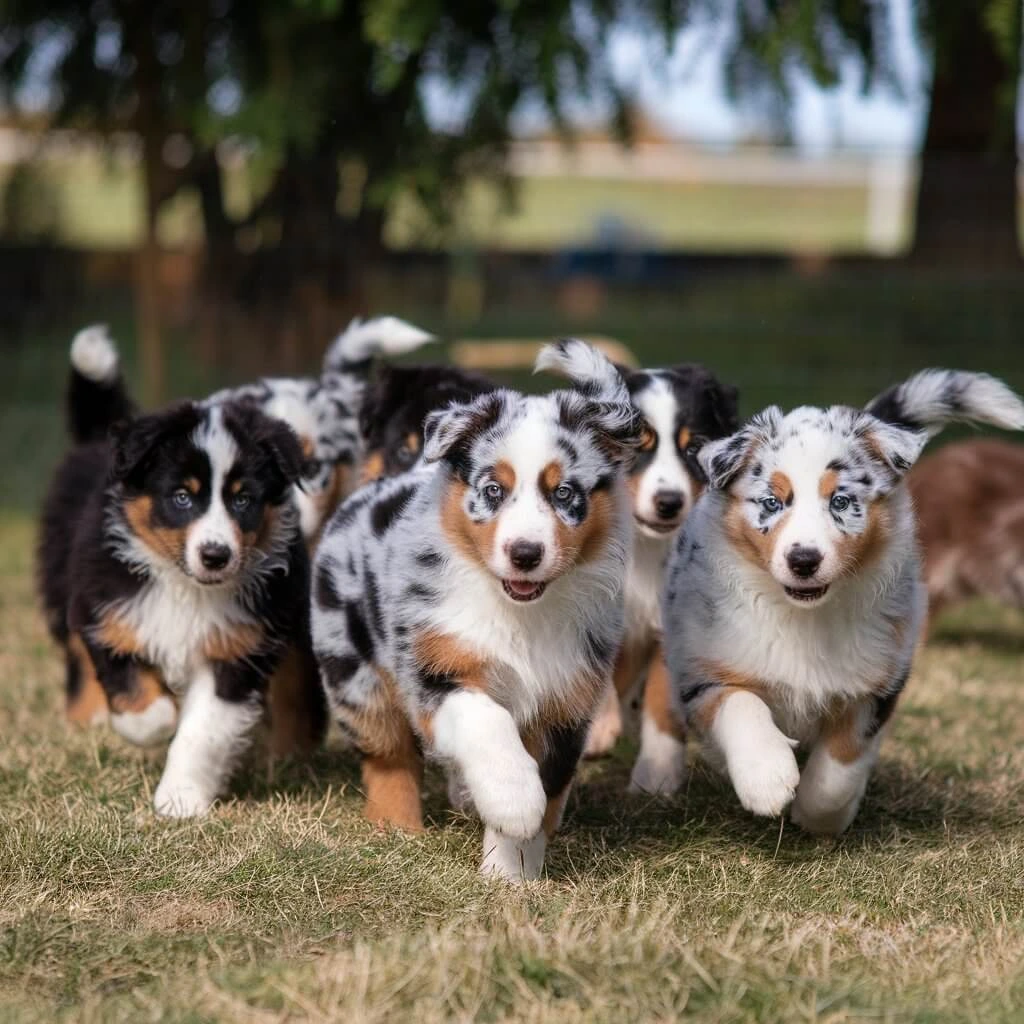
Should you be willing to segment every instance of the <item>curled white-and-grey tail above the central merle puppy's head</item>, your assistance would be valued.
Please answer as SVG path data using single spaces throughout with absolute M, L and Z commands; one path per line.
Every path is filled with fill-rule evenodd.
M 587 419 L 615 443 L 635 447 L 640 442 L 640 414 L 630 398 L 623 375 L 600 349 L 579 338 L 563 338 L 545 345 L 534 364 L 534 373 L 550 370 L 567 377 L 588 408 Z

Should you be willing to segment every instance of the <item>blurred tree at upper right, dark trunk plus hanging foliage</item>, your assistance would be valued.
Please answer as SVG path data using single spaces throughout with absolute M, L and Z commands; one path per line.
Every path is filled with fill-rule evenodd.
M 932 79 L 911 255 L 948 265 L 1017 263 L 1021 0 L 914 0 L 914 12 Z M 783 135 L 797 74 L 828 88 L 855 57 L 864 90 L 900 90 L 887 0 L 732 0 L 719 17 L 731 26 L 729 94 Z

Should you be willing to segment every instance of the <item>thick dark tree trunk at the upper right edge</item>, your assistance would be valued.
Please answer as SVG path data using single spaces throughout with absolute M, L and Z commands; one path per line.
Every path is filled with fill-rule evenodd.
M 1020 261 L 1014 56 L 985 24 L 985 4 L 932 0 L 935 70 L 921 158 L 912 258 L 994 267 Z

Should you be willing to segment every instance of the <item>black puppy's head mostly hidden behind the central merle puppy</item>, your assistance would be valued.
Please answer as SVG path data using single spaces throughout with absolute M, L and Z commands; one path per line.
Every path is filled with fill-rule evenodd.
M 497 386 L 482 374 L 459 367 L 378 366 L 359 412 L 362 482 L 407 473 L 419 465 L 427 416 L 453 401 L 472 401 Z

